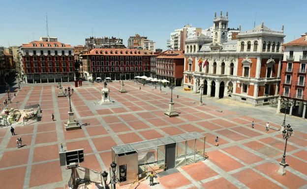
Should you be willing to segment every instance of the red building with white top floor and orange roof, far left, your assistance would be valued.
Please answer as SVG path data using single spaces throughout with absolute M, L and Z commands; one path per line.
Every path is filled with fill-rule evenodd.
M 74 81 L 74 48 L 57 38 L 40 38 L 19 48 L 25 82 Z

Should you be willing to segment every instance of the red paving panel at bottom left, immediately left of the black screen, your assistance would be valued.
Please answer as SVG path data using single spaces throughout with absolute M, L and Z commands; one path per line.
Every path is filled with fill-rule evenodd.
M 59 161 L 32 165 L 30 187 L 60 181 L 62 181 L 62 173 Z

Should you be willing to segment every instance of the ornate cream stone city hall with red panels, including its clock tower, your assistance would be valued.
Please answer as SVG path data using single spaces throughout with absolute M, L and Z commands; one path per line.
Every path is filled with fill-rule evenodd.
M 184 87 L 254 106 L 276 101 L 283 27 L 276 31 L 262 23 L 228 41 L 228 12 L 215 14 L 213 23 L 213 38 L 200 35 L 185 41 Z

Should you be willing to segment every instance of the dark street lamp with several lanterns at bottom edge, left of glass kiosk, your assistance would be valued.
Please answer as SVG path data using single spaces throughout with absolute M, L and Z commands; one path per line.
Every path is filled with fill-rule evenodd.
M 103 173 L 101 173 L 103 181 L 104 181 L 104 189 L 109 189 L 110 184 L 112 184 L 111 187 L 113 189 L 116 189 L 116 184 L 120 181 L 115 174 L 117 164 L 115 162 L 112 162 L 110 164 L 110 166 L 111 166 L 111 168 L 110 168 L 109 171 L 110 171 L 111 179 L 110 179 L 110 182 L 108 184 L 107 184 L 108 172 L 103 171 Z M 121 177 L 124 178 L 126 176 L 126 169 L 121 168 L 120 174 L 121 174 Z

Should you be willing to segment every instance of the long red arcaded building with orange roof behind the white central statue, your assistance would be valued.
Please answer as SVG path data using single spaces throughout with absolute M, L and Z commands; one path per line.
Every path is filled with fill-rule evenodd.
M 104 80 L 133 79 L 135 76 L 150 77 L 152 51 L 138 49 L 92 49 L 82 54 L 83 76 L 85 79 L 95 80 L 100 77 Z

